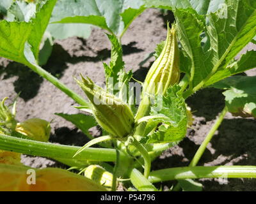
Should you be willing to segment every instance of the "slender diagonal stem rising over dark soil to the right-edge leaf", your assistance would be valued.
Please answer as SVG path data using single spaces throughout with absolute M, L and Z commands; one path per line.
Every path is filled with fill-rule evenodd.
M 193 159 L 192 159 L 191 163 L 189 164 L 189 166 L 196 166 L 196 164 L 198 163 L 199 159 L 202 157 L 202 154 L 204 154 L 204 151 L 205 151 L 208 143 L 211 141 L 212 136 L 214 136 L 214 133 L 220 127 L 220 124 L 223 121 L 227 111 L 228 111 L 228 108 L 227 108 L 227 106 L 225 106 L 225 108 L 220 113 L 220 116 L 218 117 L 218 119 L 214 123 L 214 126 L 212 126 L 212 128 L 209 131 L 208 135 L 205 137 L 204 142 L 200 145 L 199 149 L 196 151 L 196 154 L 193 157 Z

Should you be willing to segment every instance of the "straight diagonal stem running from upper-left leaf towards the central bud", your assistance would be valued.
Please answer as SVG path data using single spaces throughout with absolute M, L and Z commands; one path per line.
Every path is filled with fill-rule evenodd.
M 69 89 L 65 84 L 61 83 L 58 78 L 53 77 L 51 73 L 45 71 L 45 69 L 41 68 L 40 66 L 36 64 L 26 64 L 29 68 L 31 68 L 35 73 L 40 75 L 41 77 L 44 77 L 46 80 L 51 82 L 53 85 L 55 85 L 58 89 L 65 92 L 70 98 L 74 99 L 76 103 L 82 106 L 87 106 L 88 103 L 83 99 L 83 97 L 79 96 L 76 92 Z

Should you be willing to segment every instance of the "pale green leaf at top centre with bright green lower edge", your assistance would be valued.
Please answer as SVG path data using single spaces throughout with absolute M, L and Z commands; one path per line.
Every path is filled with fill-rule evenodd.
M 92 24 L 122 36 L 143 10 L 141 0 L 60 0 L 51 22 Z

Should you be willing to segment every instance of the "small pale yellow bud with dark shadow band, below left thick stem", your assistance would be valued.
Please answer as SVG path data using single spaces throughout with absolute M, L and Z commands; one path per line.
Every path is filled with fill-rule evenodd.
M 88 179 L 92 179 L 97 184 L 104 187 L 111 187 L 113 181 L 113 174 L 104 170 L 99 165 L 90 165 L 84 171 L 84 176 Z

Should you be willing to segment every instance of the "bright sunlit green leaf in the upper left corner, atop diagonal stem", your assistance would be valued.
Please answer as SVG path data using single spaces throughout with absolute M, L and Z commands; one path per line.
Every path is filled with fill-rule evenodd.
M 24 51 L 31 48 L 35 60 L 38 60 L 40 43 L 55 3 L 56 0 L 42 2 L 38 6 L 36 17 L 29 22 L 2 20 L 0 22 L 0 56 L 28 64 L 28 53 L 24 54 Z

